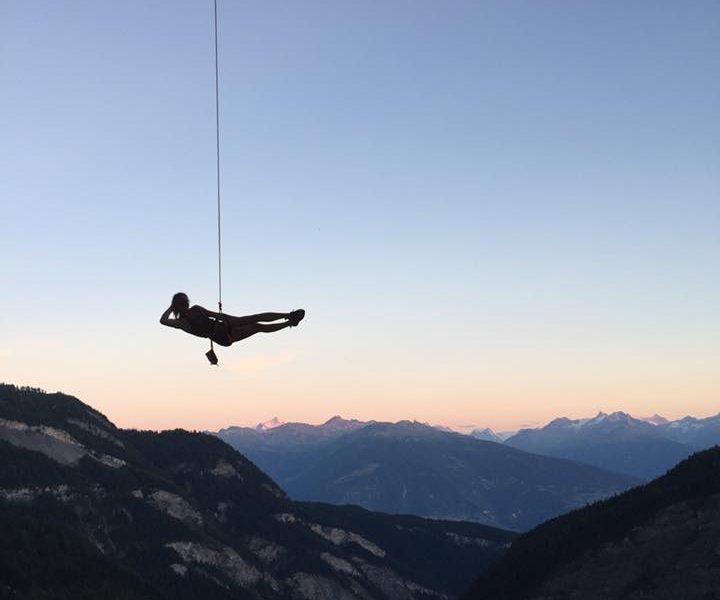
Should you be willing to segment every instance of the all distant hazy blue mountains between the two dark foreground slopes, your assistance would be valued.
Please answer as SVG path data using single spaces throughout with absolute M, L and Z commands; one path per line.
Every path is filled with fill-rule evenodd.
M 558 418 L 507 437 L 488 428 L 461 436 L 408 421 L 335 416 L 309 425 L 274 418 L 217 435 L 296 499 L 522 531 L 649 481 L 696 450 L 720 443 L 720 415 L 668 421 L 600 412 L 586 419 Z M 550 467 L 537 455 L 573 461 L 575 470 Z M 580 465 L 605 473 L 600 477 Z

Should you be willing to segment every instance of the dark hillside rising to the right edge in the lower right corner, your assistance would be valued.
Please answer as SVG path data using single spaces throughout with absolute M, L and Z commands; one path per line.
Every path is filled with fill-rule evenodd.
M 705 600 L 720 594 L 720 447 L 519 537 L 463 600 Z

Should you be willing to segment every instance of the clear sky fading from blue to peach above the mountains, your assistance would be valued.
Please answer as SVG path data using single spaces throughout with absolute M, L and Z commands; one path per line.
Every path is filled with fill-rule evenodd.
M 0 3 L 0 381 L 121 427 L 720 411 L 720 4 Z

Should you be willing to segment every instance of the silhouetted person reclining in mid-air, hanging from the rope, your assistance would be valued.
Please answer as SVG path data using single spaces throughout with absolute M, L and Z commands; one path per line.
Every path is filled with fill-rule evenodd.
M 272 333 L 286 327 L 297 327 L 304 318 L 305 311 L 301 308 L 288 313 L 267 312 L 235 317 L 210 311 L 198 304 L 190 306 L 187 294 L 178 292 L 160 316 L 160 323 L 197 337 L 208 338 L 220 346 L 231 346 L 256 333 Z M 283 321 L 274 322 L 280 320 Z

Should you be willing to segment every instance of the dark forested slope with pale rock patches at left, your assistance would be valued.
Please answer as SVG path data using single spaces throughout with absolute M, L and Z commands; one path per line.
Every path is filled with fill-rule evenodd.
M 123 598 L 450 598 L 514 537 L 292 502 L 216 437 L 123 431 L 77 399 L 6 385 L 0 517 L 0 526 L 33 524 L 13 530 L 29 548 L 60 540 L 81 549 L 72 556 L 89 554 L 118 581 L 129 578 L 135 583 L 120 587 L 130 591 L 111 595 Z M 22 577 L 27 561 L 0 565 L 10 573 L 0 577 L 0 592 L 23 597 L 41 581 L 56 598 L 104 594 L 100 587 L 69 593 L 55 568 L 60 555 L 32 559 L 34 582 Z

